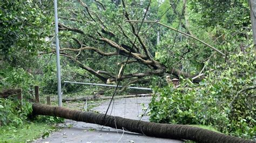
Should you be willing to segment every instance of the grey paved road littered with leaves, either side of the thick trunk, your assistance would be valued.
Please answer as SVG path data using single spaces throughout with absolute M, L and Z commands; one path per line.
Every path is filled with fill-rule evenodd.
M 113 116 L 139 119 L 142 115 L 142 103 L 147 107 L 151 97 L 122 98 L 114 101 L 107 113 Z M 93 110 L 105 113 L 110 101 L 105 101 Z M 126 103 L 126 104 L 125 104 Z M 148 121 L 144 116 L 142 120 Z M 116 128 L 103 127 L 97 124 L 89 124 L 80 121 L 65 120 L 64 128 L 54 132 L 46 139 L 38 139 L 35 142 L 181 142 L 179 140 L 146 137 L 145 135 L 124 132 Z

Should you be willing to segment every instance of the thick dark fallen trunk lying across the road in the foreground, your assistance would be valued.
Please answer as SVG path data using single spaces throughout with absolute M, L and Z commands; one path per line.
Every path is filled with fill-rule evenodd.
M 232 137 L 203 128 L 188 125 L 159 124 L 147 121 L 114 117 L 95 112 L 83 112 L 68 108 L 35 103 L 32 106 L 33 115 L 57 116 L 86 123 L 125 129 L 130 132 L 145 134 L 151 137 L 186 139 L 197 142 L 253 142 L 238 137 Z

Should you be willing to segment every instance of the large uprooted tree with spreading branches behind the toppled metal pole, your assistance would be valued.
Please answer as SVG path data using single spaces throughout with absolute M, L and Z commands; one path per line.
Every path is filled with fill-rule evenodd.
M 165 51 L 167 56 L 164 62 L 157 58 L 155 54 L 157 52 L 156 29 L 161 28 L 162 31 L 170 30 L 159 27 L 156 23 L 143 23 L 139 31 L 142 23 L 127 22 L 127 20 L 132 19 L 160 18 L 160 16 L 156 16 L 156 8 L 159 5 L 157 1 L 151 2 L 149 9 L 147 9 L 149 2 L 122 1 L 119 5 L 98 1 L 88 3 L 90 6 L 83 1 L 73 2 L 72 4 L 63 2 L 60 4 L 60 6 L 65 6 L 64 8 L 68 9 L 65 12 L 60 10 L 60 23 L 58 24 L 62 41 L 60 54 L 75 62 L 80 68 L 95 75 L 103 82 L 130 79 L 130 83 L 135 83 L 144 80 L 146 76 L 163 76 L 164 74 L 186 78 L 197 75 L 196 73 L 190 74 L 190 71 L 181 68 L 182 64 L 180 65 L 178 61 L 177 64 L 169 63 L 170 59 L 173 58 L 173 53 L 175 53 L 171 49 L 172 42 L 166 45 L 169 49 Z M 186 29 L 186 25 L 183 24 L 184 9 L 181 10 L 181 8 L 185 4 L 185 2 L 179 1 L 178 4 L 170 5 L 173 9 L 171 15 L 176 16 L 179 13 L 176 16 L 176 23 L 179 24 L 179 18 L 181 18 L 180 25 L 187 31 L 185 33 L 191 33 Z M 177 6 L 181 7 L 180 10 L 177 10 Z M 143 19 L 144 15 L 145 19 Z M 173 37 L 176 34 L 174 31 Z M 172 39 L 174 43 L 175 40 L 177 41 L 176 38 Z M 173 45 L 176 46 L 174 43 Z M 194 51 L 194 53 L 198 52 L 185 47 L 181 50 L 181 56 L 178 59 L 183 60 L 190 50 Z M 208 51 L 213 52 L 211 48 Z M 55 53 L 55 49 L 41 54 L 47 53 Z M 204 53 L 202 56 L 207 59 L 210 54 Z M 201 61 L 201 65 L 205 59 Z M 124 70 L 126 60 L 127 67 L 132 66 L 130 66 L 129 71 L 124 71 L 121 77 L 117 73 Z M 119 66 L 118 72 L 116 72 L 116 65 Z M 194 78 L 195 82 L 200 80 L 200 76 L 198 77 Z

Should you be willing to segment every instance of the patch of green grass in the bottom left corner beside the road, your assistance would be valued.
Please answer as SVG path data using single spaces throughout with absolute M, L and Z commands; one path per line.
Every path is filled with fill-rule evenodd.
M 53 125 L 45 123 L 26 123 L 21 127 L 0 127 L 0 142 L 30 142 L 34 139 L 48 136 L 51 131 L 56 130 Z

